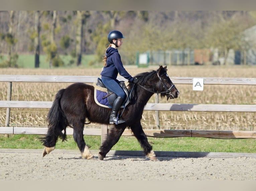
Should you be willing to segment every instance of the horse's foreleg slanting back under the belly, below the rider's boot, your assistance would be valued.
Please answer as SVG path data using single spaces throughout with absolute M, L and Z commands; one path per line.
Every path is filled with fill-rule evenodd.
M 99 152 L 99 159 L 103 160 L 106 156 L 106 154 L 110 151 L 110 149 L 118 142 L 120 139 L 121 135 L 124 132 L 124 129 L 126 126 L 122 124 L 118 124 L 116 126 L 113 126 L 109 128 L 109 133 L 105 139 L 105 141 L 102 143 L 100 147 L 100 152 Z

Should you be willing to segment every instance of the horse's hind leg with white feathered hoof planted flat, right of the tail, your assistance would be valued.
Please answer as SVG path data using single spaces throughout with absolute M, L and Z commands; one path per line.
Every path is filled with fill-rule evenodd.
M 84 159 L 95 159 L 84 140 L 84 124 L 74 125 L 73 137 Z

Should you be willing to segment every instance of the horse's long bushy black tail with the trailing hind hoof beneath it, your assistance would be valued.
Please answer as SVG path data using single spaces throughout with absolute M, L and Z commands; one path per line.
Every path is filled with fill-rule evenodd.
M 59 90 L 55 96 L 55 100 L 53 101 L 53 104 L 47 115 L 47 134 L 44 138 L 41 138 L 41 142 L 46 147 L 46 150 L 47 148 L 51 148 L 49 149 L 49 152 L 54 150 L 58 137 L 62 138 L 62 141 L 66 140 L 67 137 L 66 127 L 68 126 L 68 122 L 60 105 L 60 99 L 64 91 L 65 89 Z M 62 133 L 62 130 L 64 130 L 64 133 Z

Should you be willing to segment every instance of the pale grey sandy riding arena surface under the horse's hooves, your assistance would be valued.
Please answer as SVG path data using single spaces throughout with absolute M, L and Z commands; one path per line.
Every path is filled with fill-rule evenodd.
M 93 151 L 92 151 L 93 152 Z M 256 180 L 255 157 L 169 157 L 111 155 L 101 161 L 79 151 L 0 149 L 0 180 Z

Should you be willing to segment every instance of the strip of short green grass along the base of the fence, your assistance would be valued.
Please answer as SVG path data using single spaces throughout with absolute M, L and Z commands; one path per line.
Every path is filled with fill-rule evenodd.
M 43 149 L 39 140 L 40 135 L 0 135 L 0 149 Z M 92 150 L 98 150 L 101 143 L 100 136 L 84 136 L 86 144 Z M 148 137 L 149 143 L 155 151 L 182 152 L 244 152 L 256 153 L 255 139 L 212 139 L 199 137 L 155 138 Z M 67 141 L 56 143 L 56 149 L 78 149 L 73 136 L 67 136 Z M 135 137 L 122 136 L 112 150 L 142 150 Z

